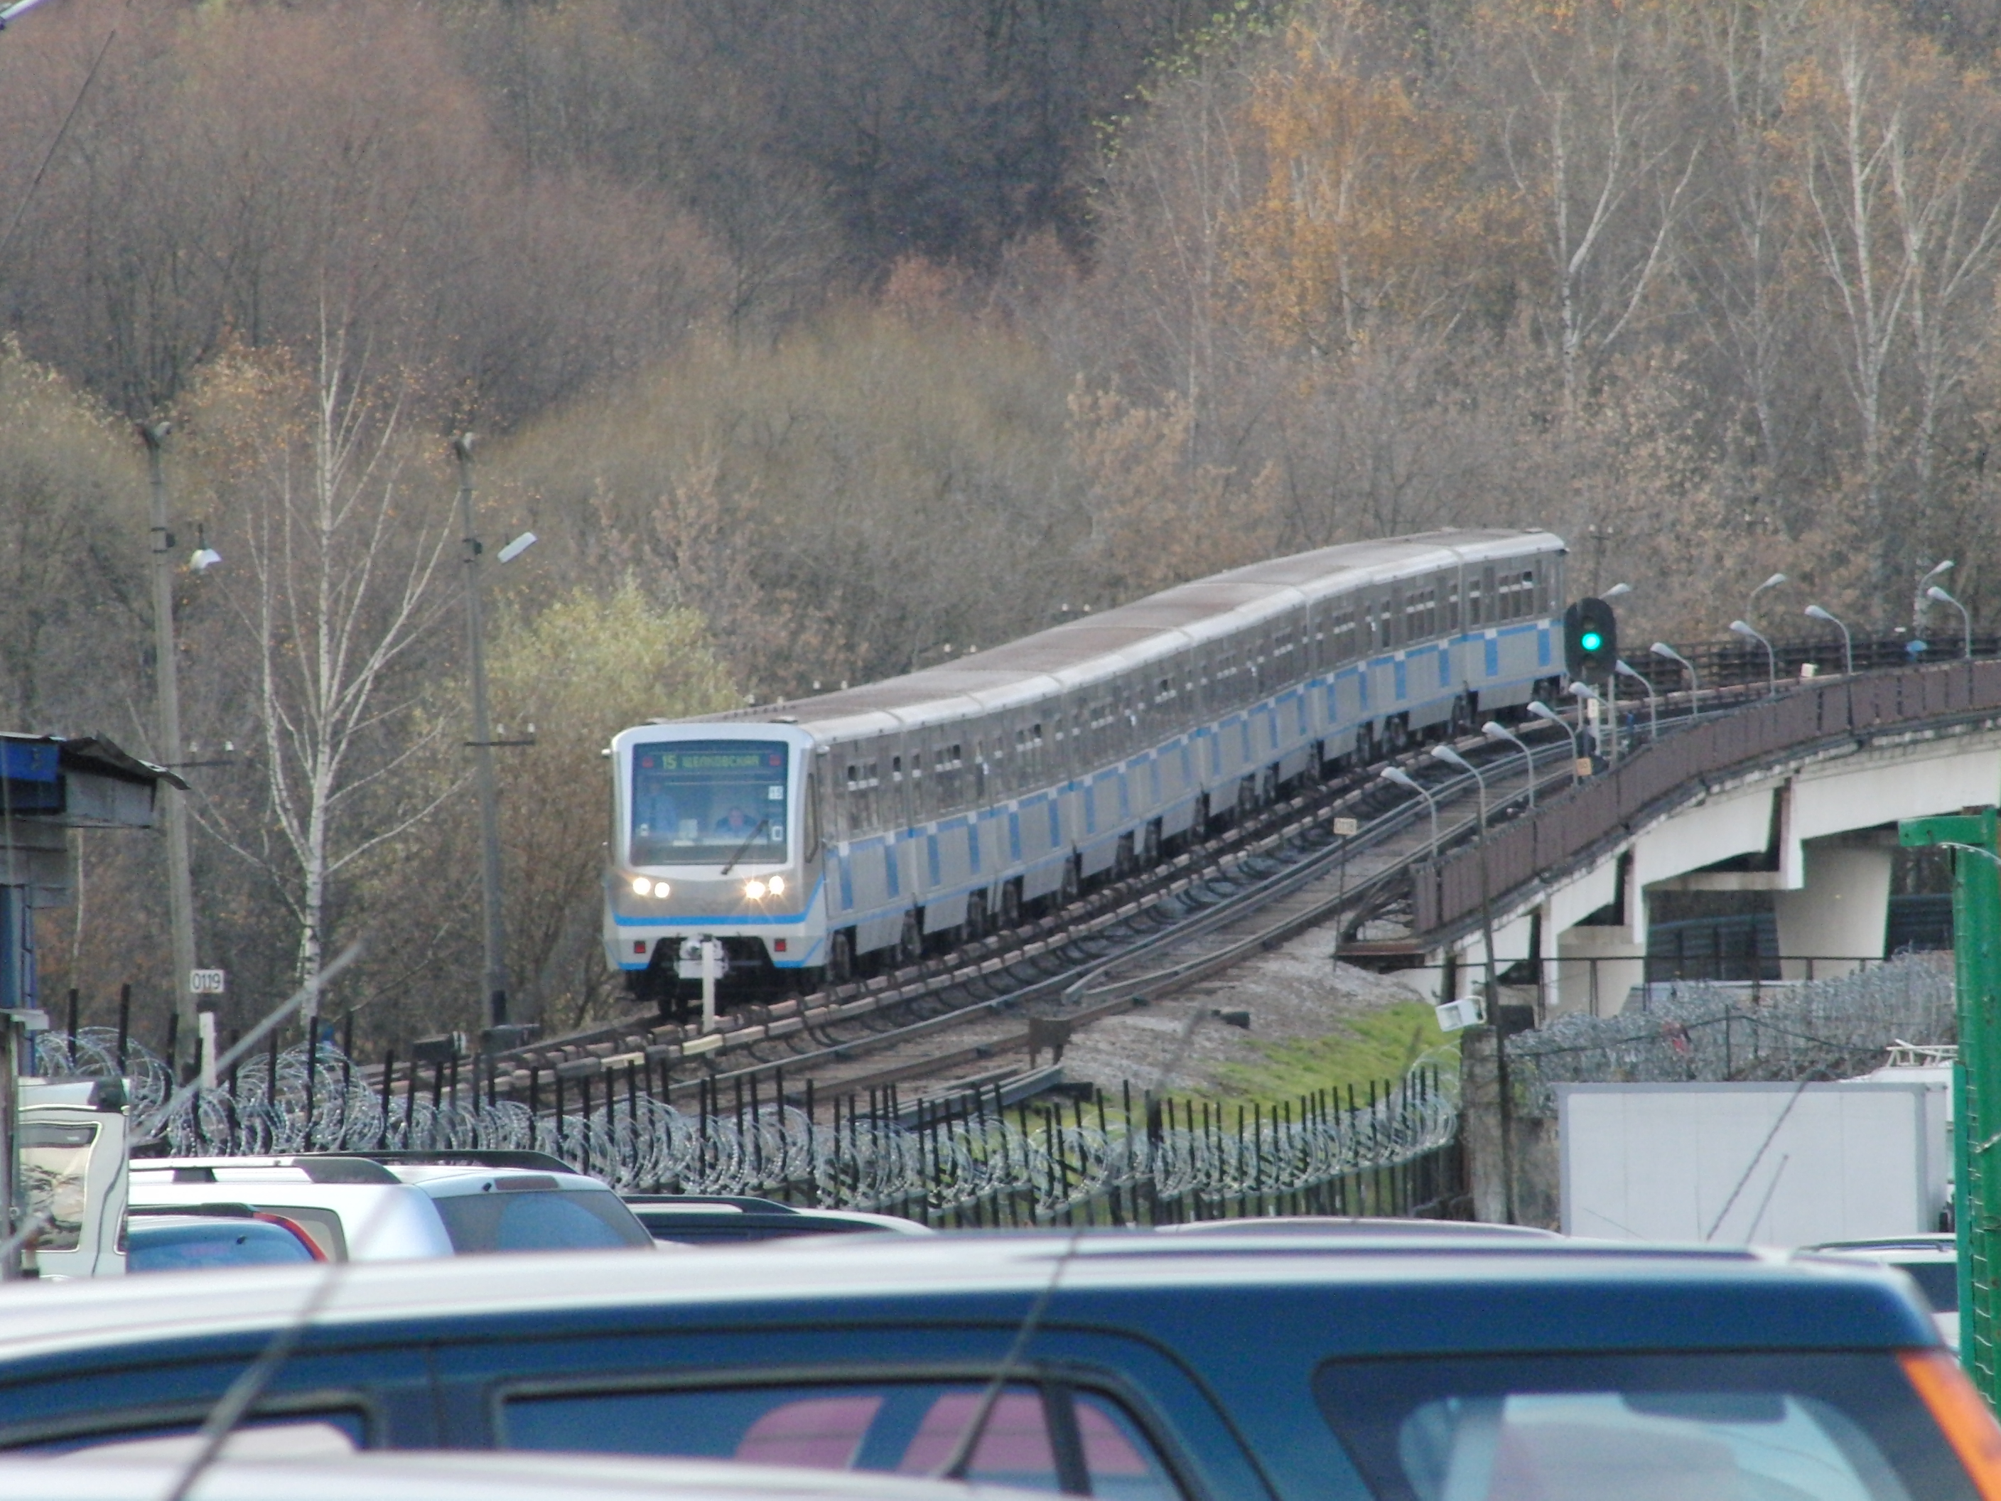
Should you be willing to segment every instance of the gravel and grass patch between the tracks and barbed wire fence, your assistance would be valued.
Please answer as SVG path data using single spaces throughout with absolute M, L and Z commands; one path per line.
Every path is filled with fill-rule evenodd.
M 1167 1087 L 1161 1071 L 1173 1063 L 1191 1011 L 1249 1011 L 1247 1033 L 1207 1021 L 1189 1039 L 1171 1087 L 1205 1091 L 1223 1065 L 1261 1063 L 1259 1043 L 1325 1037 L 1349 1017 L 1437 999 L 1427 989 L 1437 979 L 1429 971 L 1375 975 L 1331 963 L 1329 937 L 1325 929 L 1303 933 L 1213 981 L 1085 1027 L 1063 1053 L 1063 1077 L 1107 1091 L 1125 1079 L 1135 1087 Z

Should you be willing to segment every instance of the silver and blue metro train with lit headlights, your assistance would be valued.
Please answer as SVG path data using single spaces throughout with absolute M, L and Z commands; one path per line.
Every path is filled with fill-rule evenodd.
M 1215 574 L 906 676 L 620 730 L 604 949 L 666 1007 L 1013 927 L 1303 777 L 1553 694 L 1563 538 L 1445 530 Z M 714 949 L 712 949 L 714 953 Z

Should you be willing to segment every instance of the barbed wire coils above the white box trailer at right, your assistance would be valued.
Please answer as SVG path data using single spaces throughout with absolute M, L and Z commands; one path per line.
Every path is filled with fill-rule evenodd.
M 1949 1045 L 1951 953 L 1913 953 L 1799 985 L 1675 981 L 1653 985 L 1617 1017 L 1563 1017 L 1507 1039 L 1517 1111 L 1557 1113 L 1565 1083 L 1717 1083 L 1853 1079 L 1895 1045 Z

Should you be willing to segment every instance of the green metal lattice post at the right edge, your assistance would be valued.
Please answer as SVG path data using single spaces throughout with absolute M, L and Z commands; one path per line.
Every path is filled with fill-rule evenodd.
M 1953 1229 L 1959 1237 L 1959 1363 L 1989 1407 L 2001 1405 L 1995 1273 L 2001 1269 L 2001 855 L 1995 811 L 1907 819 L 1905 849 L 1953 851 Z

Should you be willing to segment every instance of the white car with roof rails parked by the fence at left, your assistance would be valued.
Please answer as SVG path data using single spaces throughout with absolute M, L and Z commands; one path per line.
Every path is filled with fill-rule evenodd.
M 134 1159 L 134 1209 L 250 1205 L 328 1261 L 654 1249 L 598 1179 L 536 1153 L 298 1153 Z

